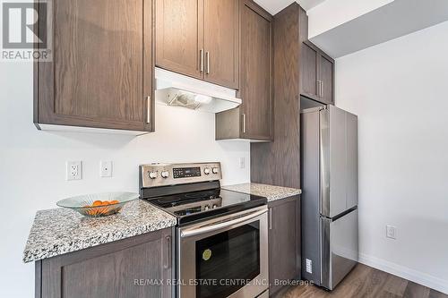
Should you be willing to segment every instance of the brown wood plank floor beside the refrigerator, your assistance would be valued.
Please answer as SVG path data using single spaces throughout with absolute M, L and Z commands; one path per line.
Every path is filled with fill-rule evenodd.
M 448 298 L 448 295 L 401 277 L 358 264 L 340 285 L 327 292 L 314 285 L 300 285 L 282 291 L 276 298 Z

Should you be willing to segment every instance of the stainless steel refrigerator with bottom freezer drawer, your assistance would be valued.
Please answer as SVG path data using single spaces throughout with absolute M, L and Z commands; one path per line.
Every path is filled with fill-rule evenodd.
M 302 277 L 332 290 L 358 262 L 358 117 L 301 112 Z

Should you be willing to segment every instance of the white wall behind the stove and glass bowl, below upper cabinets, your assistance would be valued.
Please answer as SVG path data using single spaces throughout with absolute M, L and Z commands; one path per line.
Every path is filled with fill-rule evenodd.
M 246 183 L 249 144 L 214 140 L 214 115 L 156 106 L 157 131 L 140 137 L 39 132 L 32 123 L 32 64 L 0 63 L 0 297 L 33 297 L 34 267 L 22 251 L 38 209 L 86 192 L 138 192 L 138 165 L 220 161 L 222 183 Z M 240 169 L 238 158 L 246 158 Z M 99 177 L 99 160 L 114 162 Z M 65 181 L 65 161 L 82 160 L 82 181 Z

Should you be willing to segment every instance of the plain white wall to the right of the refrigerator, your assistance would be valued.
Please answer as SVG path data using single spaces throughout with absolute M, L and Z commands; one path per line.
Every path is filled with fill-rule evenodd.
M 448 294 L 447 36 L 444 22 L 338 59 L 336 105 L 358 115 L 361 261 Z

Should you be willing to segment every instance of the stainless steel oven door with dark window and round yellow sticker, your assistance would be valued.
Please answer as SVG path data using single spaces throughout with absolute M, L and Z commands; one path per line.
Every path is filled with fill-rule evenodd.
M 177 297 L 256 297 L 269 287 L 267 207 L 177 229 Z

